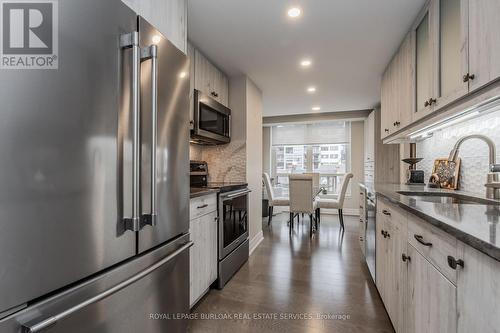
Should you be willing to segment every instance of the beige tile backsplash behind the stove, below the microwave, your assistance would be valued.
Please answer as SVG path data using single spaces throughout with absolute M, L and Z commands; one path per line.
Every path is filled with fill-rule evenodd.
M 231 141 L 221 146 L 200 146 L 191 144 L 191 160 L 208 163 L 208 181 L 244 182 L 246 181 L 246 143 Z

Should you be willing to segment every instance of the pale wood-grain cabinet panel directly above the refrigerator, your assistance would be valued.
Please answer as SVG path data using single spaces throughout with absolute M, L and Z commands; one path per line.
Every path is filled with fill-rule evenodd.
M 187 51 L 187 0 L 122 0 L 168 38 Z

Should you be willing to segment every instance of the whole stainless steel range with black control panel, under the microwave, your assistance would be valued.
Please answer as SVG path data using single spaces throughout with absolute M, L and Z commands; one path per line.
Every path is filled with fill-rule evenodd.
M 208 165 L 191 161 L 191 187 L 217 189 L 218 207 L 218 279 L 222 289 L 248 260 L 248 195 L 244 182 L 208 182 Z

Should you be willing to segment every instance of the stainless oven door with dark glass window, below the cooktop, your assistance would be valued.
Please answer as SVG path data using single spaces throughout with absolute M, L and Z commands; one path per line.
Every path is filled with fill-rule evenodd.
M 238 190 L 219 195 L 219 259 L 224 259 L 248 238 L 248 193 Z

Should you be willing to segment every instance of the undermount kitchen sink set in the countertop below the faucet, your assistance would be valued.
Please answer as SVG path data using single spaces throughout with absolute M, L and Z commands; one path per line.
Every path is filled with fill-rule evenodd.
M 397 193 L 418 201 L 441 203 L 441 204 L 500 205 L 500 201 L 478 198 L 458 193 L 412 192 L 412 191 L 398 191 Z

